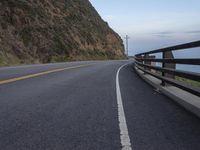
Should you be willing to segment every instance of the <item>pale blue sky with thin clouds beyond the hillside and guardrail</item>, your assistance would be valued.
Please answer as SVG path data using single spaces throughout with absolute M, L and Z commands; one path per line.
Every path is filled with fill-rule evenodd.
M 90 0 L 129 54 L 200 40 L 200 0 Z M 200 58 L 200 48 L 181 55 Z

